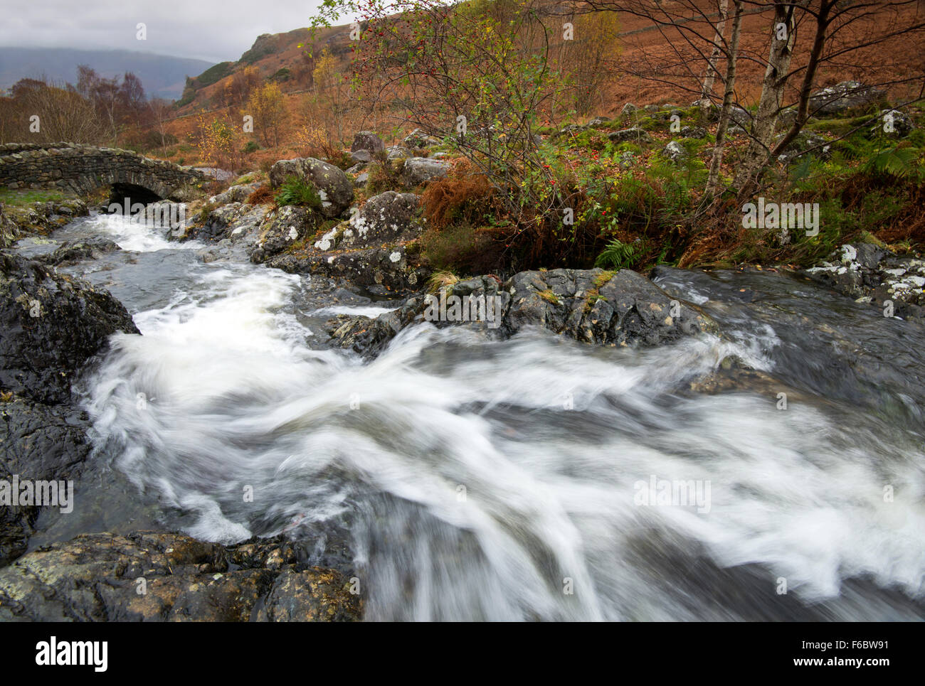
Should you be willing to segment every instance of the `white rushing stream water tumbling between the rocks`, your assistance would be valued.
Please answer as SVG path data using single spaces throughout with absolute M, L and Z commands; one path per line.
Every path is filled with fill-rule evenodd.
M 287 533 L 360 580 L 367 619 L 925 617 L 917 323 L 793 276 L 667 270 L 722 337 L 602 349 L 419 325 L 361 361 L 325 349 L 324 322 L 395 303 L 204 263 L 116 216 L 56 239 L 88 235 L 124 251 L 69 270 L 142 336 L 85 379 L 93 470 L 32 545 Z M 701 499 L 646 504 L 653 481 Z

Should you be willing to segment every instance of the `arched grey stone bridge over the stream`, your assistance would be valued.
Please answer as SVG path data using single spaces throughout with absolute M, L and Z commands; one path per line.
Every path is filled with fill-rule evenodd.
M 0 186 L 8 189 L 51 188 L 86 195 L 110 186 L 114 198 L 188 201 L 206 178 L 192 167 L 117 148 L 64 142 L 0 145 Z

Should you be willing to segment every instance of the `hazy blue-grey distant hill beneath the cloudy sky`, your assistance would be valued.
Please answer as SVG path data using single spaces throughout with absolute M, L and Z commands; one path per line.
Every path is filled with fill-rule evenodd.
M 129 50 L 77 50 L 72 48 L 0 47 L 0 89 L 20 79 L 47 76 L 52 80 L 77 80 L 77 66 L 85 64 L 107 79 L 127 71 L 142 80 L 144 92 L 176 100 L 187 76 L 200 74 L 210 62 Z

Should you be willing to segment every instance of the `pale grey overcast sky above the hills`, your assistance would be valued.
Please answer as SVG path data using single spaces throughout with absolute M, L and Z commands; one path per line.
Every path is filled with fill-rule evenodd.
M 7 7 L 0 45 L 120 48 L 237 60 L 261 33 L 308 26 L 320 0 L 26 0 Z M 147 40 L 136 38 L 139 23 Z M 348 21 L 338 22 L 348 23 Z

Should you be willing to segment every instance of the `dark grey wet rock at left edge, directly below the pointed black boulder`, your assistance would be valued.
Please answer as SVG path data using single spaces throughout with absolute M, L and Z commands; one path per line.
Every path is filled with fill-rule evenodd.
M 73 479 L 92 450 L 86 414 L 0 394 L 0 480 Z M 36 505 L 0 506 L 0 567 L 22 555 L 39 516 Z

